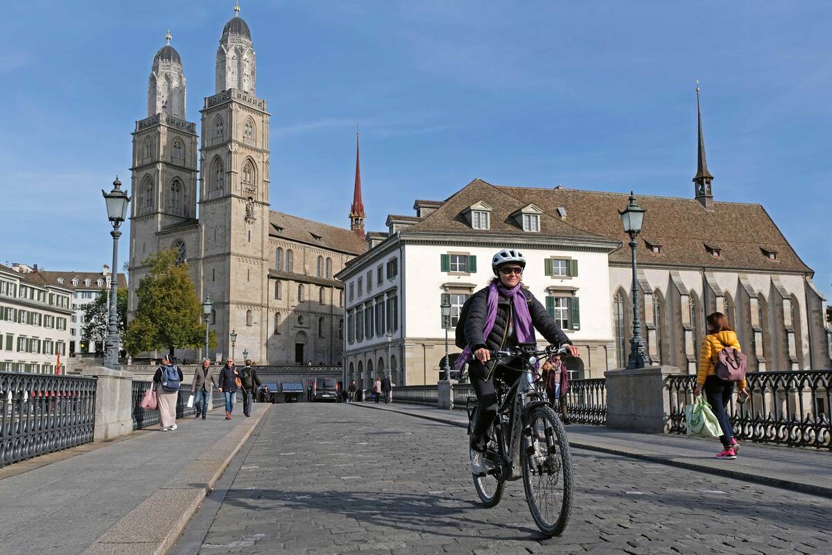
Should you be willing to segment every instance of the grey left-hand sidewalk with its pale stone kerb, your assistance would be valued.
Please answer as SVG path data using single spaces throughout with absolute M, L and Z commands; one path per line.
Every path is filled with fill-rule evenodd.
M 271 407 L 254 406 L 250 419 L 214 411 L 0 474 L 0 554 L 163 553 Z

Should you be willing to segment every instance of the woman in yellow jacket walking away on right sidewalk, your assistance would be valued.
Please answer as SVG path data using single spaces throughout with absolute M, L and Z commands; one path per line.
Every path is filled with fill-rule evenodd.
M 693 394 L 700 395 L 705 389 L 705 396 L 708 404 L 711 404 L 716 419 L 720 421 L 723 450 L 716 455 L 716 458 L 734 459 L 740 451 L 740 444 L 734 438 L 734 429 L 731 428 L 730 419 L 726 407 L 734 394 L 735 382 L 720 379 L 716 375 L 714 363 L 719 357 L 720 351 L 726 347 L 740 350 L 740 342 L 736 339 L 734 330 L 731 330 L 726 315 L 715 312 L 706 318 L 708 334 L 702 340 L 702 348 L 699 352 L 699 371 L 696 374 L 696 389 Z M 740 382 L 740 394 L 745 394 L 745 379 Z

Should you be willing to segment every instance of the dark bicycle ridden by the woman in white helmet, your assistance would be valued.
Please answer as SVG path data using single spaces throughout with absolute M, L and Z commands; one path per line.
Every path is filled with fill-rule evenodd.
M 535 365 L 555 354 L 568 351 L 552 345 L 538 350 L 532 344 L 492 352 L 503 372 L 521 375 L 510 386 L 499 375 L 494 379 L 498 410 L 488 430 L 488 472 L 484 476 L 473 474 L 474 488 L 488 508 L 500 502 L 507 481 L 522 478 L 532 518 L 547 536 L 561 535 L 572 513 L 572 454 L 566 430 L 548 404 L 545 391 L 534 387 Z M 504 365 L 509 361 L 522 361 L 523 368 Z M 477 411 L 477 398 L 469 398 L 469 435 Z M 503 427 L 507 424 L 505 434 Z

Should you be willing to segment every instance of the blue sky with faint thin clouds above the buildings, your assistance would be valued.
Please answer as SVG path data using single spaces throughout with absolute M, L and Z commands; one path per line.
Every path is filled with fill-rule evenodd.
M 233 5 L 7 2 L 0 262 L 108 261 L 100 190 L 127 182 L 152 57 L 170 27 L 199 121 Z M 829 2 L 241 7 L 272 113 L 274 210 L 347 225 L 356 121 L 373 230 L 473 177 L 692 196 L 699 78 L 716 199 L 765 206 L 832 295 Z

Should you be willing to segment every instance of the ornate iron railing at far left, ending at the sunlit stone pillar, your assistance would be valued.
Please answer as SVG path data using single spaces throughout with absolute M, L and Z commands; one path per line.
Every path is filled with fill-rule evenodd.
M 92 442 L 96 379 L 0 372 L 0 467 Z

